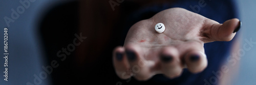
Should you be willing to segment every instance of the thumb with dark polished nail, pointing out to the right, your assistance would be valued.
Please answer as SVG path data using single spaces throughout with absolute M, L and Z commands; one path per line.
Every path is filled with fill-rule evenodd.
M 225 21 L 223 24 L 210 19 L 206 19 L 201 35 L 205 42 L 230 41 L 236 32 L 240 30 L 241 21 L 237 18 Z

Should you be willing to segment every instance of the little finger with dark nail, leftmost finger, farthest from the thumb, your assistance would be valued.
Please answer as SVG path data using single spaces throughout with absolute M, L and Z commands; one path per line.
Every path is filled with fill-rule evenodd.
M 113 51 L 113 64 L 118 77 L 127 79 L 132 76 L 130 65 L 124 55 L 124 48 L 118 46 Z

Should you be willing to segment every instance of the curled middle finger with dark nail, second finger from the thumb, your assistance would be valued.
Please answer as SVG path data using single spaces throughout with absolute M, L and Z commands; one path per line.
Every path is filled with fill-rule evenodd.
M 165 47 L 160 54 L 161 71 L 169 77 L 175 78 L 181 75 L 183 65 L 175 47 Z

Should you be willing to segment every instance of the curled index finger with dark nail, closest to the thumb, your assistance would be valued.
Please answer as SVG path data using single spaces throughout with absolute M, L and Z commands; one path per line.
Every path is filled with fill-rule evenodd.
M 207 67 L 207 58 L 204 53 L 203 45 L 197 42 L 189 43 L 184 57 L 187 69 L 191 73 L 202 72 Z

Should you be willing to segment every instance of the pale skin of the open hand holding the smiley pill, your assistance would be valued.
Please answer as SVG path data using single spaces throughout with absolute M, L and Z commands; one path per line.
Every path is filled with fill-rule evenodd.
M 157 23 L 165 25 L 161 34 L 155 31 Z M 230 41 L 236 35 L 239 19 L 230 19 L 223 24 L 182 8 L 161 11 L 153 17 L 135 23 L 125 38 L 124 46 L 113 50 L 113 65 L 116 74 L 127 79 L 148 80 L 155 74 L 169 78 L 181 75 L 187 68 L 199 73 L 207 67 L 204 43 Z M 136 59 L 129 61 L 125 51 L 134 52 Z M 117 60 L 116 53 L 122 54 Z M 160 60 L 162 55 L 172 58 L 169 62 Z M 197 61 L 189 58 L 198 55 Z

